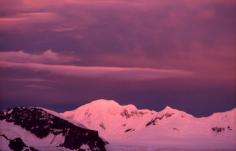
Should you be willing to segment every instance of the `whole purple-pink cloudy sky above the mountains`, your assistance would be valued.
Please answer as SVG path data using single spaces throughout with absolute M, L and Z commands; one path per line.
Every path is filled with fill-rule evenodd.
M 234 0 L 0 0 L 0 108 L 236 107 Z

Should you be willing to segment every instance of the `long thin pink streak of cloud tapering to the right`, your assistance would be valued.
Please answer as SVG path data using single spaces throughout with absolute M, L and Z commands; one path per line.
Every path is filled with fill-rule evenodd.
M 176 69 L 52 65 L 39 63 L 15 63 L 6 61 L 1 61 L 0 67 L 41 71 L 67 77 L 104 78 L 116 80 L 155 80 L 186 78 L 194 75 L 193 72 Z

